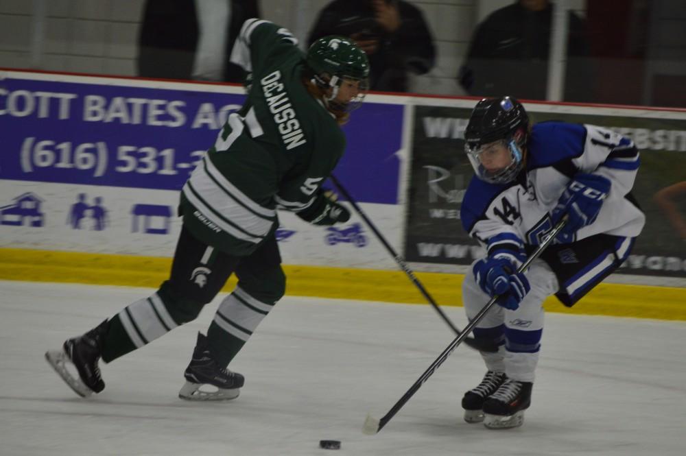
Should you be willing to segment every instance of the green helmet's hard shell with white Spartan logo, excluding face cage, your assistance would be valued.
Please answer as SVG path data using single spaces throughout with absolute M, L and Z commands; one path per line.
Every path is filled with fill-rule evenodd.
M 319 38 L 307 51 L 307 66 L 315 74 L 365 80 L 369 77 L 369 60 L 353 40 L 344 36 Z

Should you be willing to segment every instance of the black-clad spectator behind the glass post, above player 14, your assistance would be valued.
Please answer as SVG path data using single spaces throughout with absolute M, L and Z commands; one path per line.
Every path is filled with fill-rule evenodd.
M 458 82 L 478 97 L 546 99 L 553 5 L 519 0 L 477 25 Z M 569 12 L 565 101 L 593 101 L 586 26 Z

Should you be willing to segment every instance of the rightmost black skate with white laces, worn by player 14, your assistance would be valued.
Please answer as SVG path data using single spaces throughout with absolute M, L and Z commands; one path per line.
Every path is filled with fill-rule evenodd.
M 489 429 L 518 427 L 531 405 L 531 382 L 506 381 L 484 402 L 484 426 Z

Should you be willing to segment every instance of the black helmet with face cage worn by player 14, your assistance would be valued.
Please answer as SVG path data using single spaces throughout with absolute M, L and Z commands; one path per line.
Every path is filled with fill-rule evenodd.
M 484 98 L 479 101 L 464 130 L 464 151 L 477 176 L 494 184 L 511 182 L 524 166 L 523 146 L 528 140 L 529 116 L 512 97 Z M 497 171 L 488 171 L 479 156 L 484 145 L 500 141 L 510 149 L 512 162 Z

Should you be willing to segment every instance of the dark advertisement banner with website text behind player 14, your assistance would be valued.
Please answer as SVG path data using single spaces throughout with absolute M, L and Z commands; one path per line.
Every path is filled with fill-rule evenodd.
M 462 197 L 473 176 L 463 134 L 475 102 L 459 104 L 414 110 L 405 228 L 408 261 L 469 265 L 483 254 L 460 221 Z M 620 272 L 686 277 L 686 115 L 545 104 L 525 107 L 534 122 L 591 123 L 635 141 L 641 168 L 632 193 L 647 221 Z

